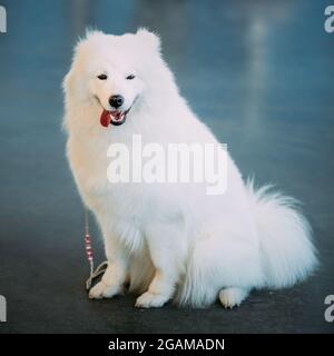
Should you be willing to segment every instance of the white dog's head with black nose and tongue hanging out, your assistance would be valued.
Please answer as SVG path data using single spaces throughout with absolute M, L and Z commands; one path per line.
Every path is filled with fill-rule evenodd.
M 159 48 L 159 38 L 145 29 L 124 36 L 88 32 L 63 81 L 67 101 L 100 107 L 104 126 L 124 123 L 145 92 L 148 59 L 160 57 Z

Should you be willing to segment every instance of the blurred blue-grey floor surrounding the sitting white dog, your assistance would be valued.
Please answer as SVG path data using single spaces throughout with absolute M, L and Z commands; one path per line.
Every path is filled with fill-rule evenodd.
M 333 333 L 334 33 L 327 1 L 1 1 L 0 333 Z M 306 283 L 256 291 L 239 309 L 138 310 L 132 296 L 90 301 L 82 207 L 65 158 L 60 83 L 87 26 L 146 26 L 194 110 L 243 174 L 304 204 L 321 268 Z M 94 245 L 102 259 L 94 227 Z

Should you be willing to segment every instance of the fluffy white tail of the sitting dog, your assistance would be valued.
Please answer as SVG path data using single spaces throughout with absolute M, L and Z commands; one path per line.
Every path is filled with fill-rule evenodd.
M 271 186 L 254 189 L 247 182 L 250 208 L 259 236 L 264 283 L 269 288 L 283 288 L 305 279 L 316 267 L 312 230 L 297 210 L 296 200 L 271 192 Z

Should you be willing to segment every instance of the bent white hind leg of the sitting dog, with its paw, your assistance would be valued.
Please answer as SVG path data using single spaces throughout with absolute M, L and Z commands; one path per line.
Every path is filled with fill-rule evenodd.
M 229 220 L 229 222 L 232 222 Z M 239 305 L 263 285 L 256 237 L 223 224 L 202 233 L 195 244 L 177 301 L 205 307 L 218 297 L 225 307 Z M 248 229 L 250 230 L 250 229 Z

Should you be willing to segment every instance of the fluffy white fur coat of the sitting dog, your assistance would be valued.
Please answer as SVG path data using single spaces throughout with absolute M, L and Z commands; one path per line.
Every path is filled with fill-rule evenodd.
M 99 80 L 101 72 L 107 80 Z M 135 73 L 136 79 L 126 80 Z M 84 202 L 101 228 L 108 268 L 91 298 L 112 297 L 127 278 L 141 293 L 136 306 L 206 306 L 217 298 L 239 305 L 252 288 L 282 288 L 316 264 L 311 229 L 294 200 L 245 184 L 228 157 L 227 190 L 207 196 L 189 185 L 112 185 L 111 142 L 214 142 L 216 138 L 179 95 L 160 55 L 159 38 L 89 32 L 75 50 L 63 81 L 67 155 Z M 111 95 L 132 106 L 119 127 L 99 123 Z M 136 99 L 136 100 L 135 100 Z

